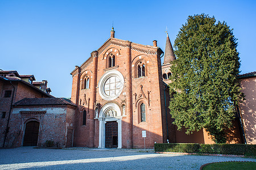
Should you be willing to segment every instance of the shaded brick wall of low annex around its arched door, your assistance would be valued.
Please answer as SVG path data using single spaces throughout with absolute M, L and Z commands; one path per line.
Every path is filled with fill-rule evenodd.
M 20 111 L 46 111 L 46 113 L 24 114 L 20 113 Z M 66 147 L 68 129 L 73 129 L 75 124 L 74 117 L 75 107 L 67 107 L 67 105 L 14 107 L 6 146 L 22 146 L 27 122 L 38 121 L 40 123 L 38 146 L 46 146 L 46 141 L 52 140 L 55 147 Z

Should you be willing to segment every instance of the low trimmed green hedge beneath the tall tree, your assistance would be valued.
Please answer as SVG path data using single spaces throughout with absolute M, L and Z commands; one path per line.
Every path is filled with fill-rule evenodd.
M 187 152 L 226 155 L 256 155 L 256 145 L 246 144 L 199 144 L 155 143 L 155 152 Z

